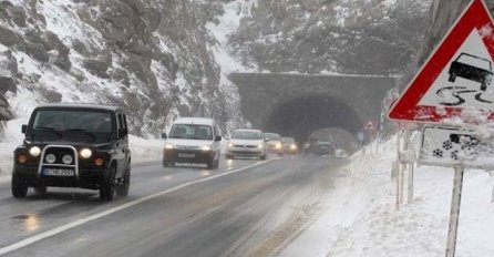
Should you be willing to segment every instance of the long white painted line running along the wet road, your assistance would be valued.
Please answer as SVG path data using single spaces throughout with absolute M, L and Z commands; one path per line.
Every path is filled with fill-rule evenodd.
M 135 199 L 133 202 L 128 202 L 126 204 L 113 207 L 111 209 L 106 209 L 104 212 L 101 212 L 101 213 L 97 213 L 97 214 L 93 214 L 93 215 L 91 215 L 89 217 L 85 217 L 85 218 L 82 218 L 82 219 L 79 219 L 79 220 L 74 220 L 74 222 L 65 224 L 63 226 L 50 229 L 48 232 L 43 232 L 43 233 L 38 234 L 35 236 L 28 237 L 28 238 L 25 238 L 23 240 L 20 240 L 18 243 L 11 244 L 11 245 L 6 246 L 6 247 L 2 247 L 2 248 L 0 248 L 0 255 L 4 255 L 4 254 L 8 254 L 10 251 L 23 248 L 23 247 L 32 245 L 32 244 L 34 244 L 34 243 L 37 243 L 39 240 L 52 237 L 52 236 L 54 236 L 56 234 L 60 234 L 62 232 L 65 232 L 65 230 L 69 230 L 71 228 L 81 226 L 81 225 L 86 224 L 86 223 L 89 223 L 91 220 L 94 220 L 94 219 L 97 219 L 97 218 L 101 218 L 101 217 L 114 214 L 114 213 L 120 212 L 122 209 L 126 209 L 126 208 L 130 208 L 132 206 L 142 204 L 142 203 L 144 203 L 146 201 L 150 201 L 152 198 L 156 198 L 156 197 L 169 194 L 172 192 L 182 189 L 182 188 L 187 187 L 187 186 L 192 186 L 192 185 L 195 185 L 195 184 L 199 184 L 199 183 L 203 183 L 203 182 L 207 182 L 207 181 L 210 181 L 210 179 L 214 179 L 214 178 L 218 178 L 218 177 L 223 177 L 223 176 L 226 176 L 226 175 L 230 175 L 230 174 L 234 174 L 234 173 L 243 172 L 245 169 L 249 169 L 251 167 L 259 166 L 261 164 L 266 164 L 266 163 L 269 163 L 269 162 L 272 162 L 272 161 L 276 161 L 276 160 L 278 160 L 278 158 L 271 158 L 271 160 L 259 162 L 259 163 L 256 163 L 256 164 L 253 164 L 253 165 L 249 165 L 249 166 L 245 166 L 245 167 L 241 167 L 241 168 L 238 168 L 238 169 L 225 172 L 225 173 L 222 173 L 222 174 L 218 174 L 218 175 L 215 175 L 215 176 L 205 177 L 205 178 L 200 178 L 200 179 L 193 181 L 193 182 L 187 182 L 185 184 L 172 187 L 169 189 L 162 191 L 162 192 L 158 192 L 158 193 L 153 194 L 153 195 L 144 196 L 144 197 Z

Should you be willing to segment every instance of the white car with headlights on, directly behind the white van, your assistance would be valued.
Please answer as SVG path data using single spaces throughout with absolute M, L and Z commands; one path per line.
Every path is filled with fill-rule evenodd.
M 267 145 L 259 130 L 235 130 L 227 144 L 226 158 L 259 157 L 266 160 Z

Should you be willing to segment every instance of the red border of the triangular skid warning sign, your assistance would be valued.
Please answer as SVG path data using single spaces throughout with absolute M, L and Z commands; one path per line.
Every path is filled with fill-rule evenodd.
M 415 78 L 404 93 L 391 107 L 388 114 L 390 120 L 439 123 L 444 119 L 461 115 L 461 107 L 446 106 L 438 112 L 435 106 L 418 104 L 475 28 L 480 31 L 483 29 L 490 29 L 492 31 L 493 34 L 491 37 L 483 37 L 482 41 L 494 59 L 494 21 L 485 3 L 482 0 L 473 0 L 446 33 L 439 47 L 436 47 L 433 54 L 415 74 Z M 493 111 L 487 112 L 487 115 L 488 120 L 494 120 Z

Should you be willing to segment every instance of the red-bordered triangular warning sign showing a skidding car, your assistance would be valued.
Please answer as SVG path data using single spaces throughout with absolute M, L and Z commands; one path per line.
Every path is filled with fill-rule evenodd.
M 466 107 L 494 120 L 494 22 L 473 0 L 391 107 L 391 120 L 441 122 Z

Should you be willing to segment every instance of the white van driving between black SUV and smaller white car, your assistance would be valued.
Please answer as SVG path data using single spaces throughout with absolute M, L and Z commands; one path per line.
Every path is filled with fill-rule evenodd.
M 207 117 L 179 117 L 163 134 L 163 166 L 173 167 L 175 163 L 204 163 L 207 168 L 218 167 L 220 147 L 218 125 Z

